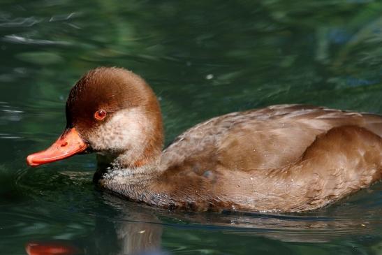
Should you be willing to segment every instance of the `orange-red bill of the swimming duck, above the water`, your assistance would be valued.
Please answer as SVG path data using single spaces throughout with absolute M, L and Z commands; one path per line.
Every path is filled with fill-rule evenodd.
M 40 166 L 44 163 L 66 159 L 84 152 L 86 149 L 87 143 L 82 140 L 77 130 L 75 130 L 75 128 L 66 129 L 47 150 L 27 156 L 27 163 L 29 166 Z

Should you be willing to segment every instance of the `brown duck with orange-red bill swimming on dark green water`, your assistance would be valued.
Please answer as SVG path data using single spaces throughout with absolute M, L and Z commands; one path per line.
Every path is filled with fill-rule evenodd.
M 40 166 L 96 153 L 96 187 L 128 201 L 193 212 L 304 212 L 381 180 L 382 116 L 284 104 L 191 127 L 163 150 L 153 90 L 125 68 L 98 67 L 66 101 L 66 127 Z

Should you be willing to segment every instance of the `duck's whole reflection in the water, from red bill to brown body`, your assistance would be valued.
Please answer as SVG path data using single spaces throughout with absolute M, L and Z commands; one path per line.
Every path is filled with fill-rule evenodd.
M 346 216 L 357 215 L 355 211 L 359 214 L 360 210 L 348 205 L 307 214 L 179 213 L 130 203 L 103 193 L 105 204 L 115 214 L 96 217 L 96 227 L 89 237 L 73 242 L 30 242 L 27 254 L 163 255 L 177 249 L 171 245 L 186 242 L 184 238 L 189 233 L 200 235 L 201 243 L 215 242 L 221 249 L 227 238 L 231 244 L 248 242 L 249 245 L 280 240 L 283 242 L 279 245 L 286 247 L 286 242 L 332 242 L 341 238 L 348 240 L 351 236 L 356 242 L 362 233 L 372 235 L 381 229 L 379 221 Z M 344 210 L 344 206 L 348 210 Z M 373 214 L 381 214 L 380 209 L 375 207 Z M 208 234 L 212 231 L 213 235 Z M 164 241 L 163 248 L 162 240 L 171 241 Z

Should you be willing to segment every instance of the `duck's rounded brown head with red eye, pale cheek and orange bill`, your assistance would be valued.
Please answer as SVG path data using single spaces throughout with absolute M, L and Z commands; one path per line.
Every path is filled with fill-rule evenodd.
M 145 80 L 123 68 L 86 73 L 66 101 L 66 128 L 46 150 L 27 157 L 40 166 L 97 152 L 98 161 L 137 167 L 157 159 L 163 145 L 159 103 Z

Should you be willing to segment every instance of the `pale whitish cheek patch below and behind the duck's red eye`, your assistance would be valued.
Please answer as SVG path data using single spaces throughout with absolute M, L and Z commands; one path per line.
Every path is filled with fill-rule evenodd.
M 91 132 L 89 142 L 98 151 L 128 150 L 136 154 L 144 149 L 147 124 L 147 118 L 139 108 L 122 110 Z

